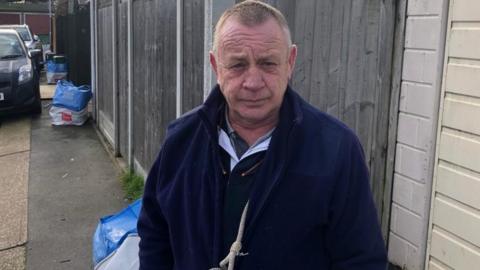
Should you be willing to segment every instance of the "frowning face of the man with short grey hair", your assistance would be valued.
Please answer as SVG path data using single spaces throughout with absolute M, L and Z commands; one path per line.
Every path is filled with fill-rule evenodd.
M 274 19 L 245 26 L 229 18 L 221 29 L 217 54 L 210 53 L 229 120 L 245 127 L 276 123 L 295 57 L 296 47 L 288 46 Z

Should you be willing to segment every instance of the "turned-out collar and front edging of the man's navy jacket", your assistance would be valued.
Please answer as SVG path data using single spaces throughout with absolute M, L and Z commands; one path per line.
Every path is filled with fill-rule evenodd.
M 298 125 L 303 121 L 302 113 L 302 98 L 295 93 L 295 91 L 287 87 L 282 105 L 280 107 L 280 119 L 275 131 L 272 134 L 270 146 L 267 150 L 265 161 L 258 173 L 253 179 L 254 185 L 252 187 L 252 194 L 250 197 L 249 211 L 246 220 L 246 231 L 243 238 L 243 244 L 248 249 L 248 242 L 252 236 L 252 231 L 255 229 L 255 224 L 261 216 L 265 205 L 268 203 L 268 198 L 272 191 L 284 178 L 286 166 L 289 158 L 291 158 L 292 151 L 295 144 L 295 133 L 298 130 Z M 220 91 L 220 87 L 216 85 L 208 98 L 199 109 L 200 118 L 208 130 L 211 145 L 218 145 L 218 123 L 222 117 L 223 108 L 225 107 L 225 98 Z M 213 147 L 214 156 L 218 156 L 217 147 Z M 218 166 L 216 168 L 220 169 Z M 217 175 L 218 172 L 215 172 Z M 216 176 L 218 177 L 218 176 Z M 224 183 L 220 181 L 221 177 L 216 181 L 216 208 L 215 209 L 215 235 L 214 235 L 214 260 L 220 259 L 220 235 L 221 235 L 221 205 L 222 186 Z

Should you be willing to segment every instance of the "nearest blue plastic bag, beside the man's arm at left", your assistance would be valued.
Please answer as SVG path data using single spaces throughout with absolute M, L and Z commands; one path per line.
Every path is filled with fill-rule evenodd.
M 129 234 L 137 233 L 141 208 L 142 200 L 139 199 L 115 215 L 100 219 L 93 235 L 94 265 L 115 251 Z

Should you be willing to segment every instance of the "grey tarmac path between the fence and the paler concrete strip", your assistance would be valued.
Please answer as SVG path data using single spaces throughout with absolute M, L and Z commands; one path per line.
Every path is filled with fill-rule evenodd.
M 91 269 L 98 219 L 127 204 L 119 171 L 90 121 L 52 126 L 45 110 L 32 120 L 27 269 Z

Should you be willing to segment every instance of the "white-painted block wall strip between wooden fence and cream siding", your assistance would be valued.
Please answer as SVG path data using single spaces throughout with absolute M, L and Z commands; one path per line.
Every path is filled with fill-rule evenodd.
M 389 260 L 424 269 L 447 0 L 408 0 Z

